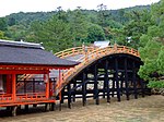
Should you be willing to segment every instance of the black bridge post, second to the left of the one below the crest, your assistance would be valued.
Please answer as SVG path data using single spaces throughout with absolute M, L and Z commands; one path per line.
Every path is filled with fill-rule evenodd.
M 97 81 L 97 65 L 94 66 L 94 98 L 96 105 L 99 105 L 99 96 L 98 96 L 98 81 Z

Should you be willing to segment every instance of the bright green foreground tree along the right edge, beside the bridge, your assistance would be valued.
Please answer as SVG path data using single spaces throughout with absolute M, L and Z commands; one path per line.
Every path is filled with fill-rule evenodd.
M 149 81 L 150 87 L 163 87 L 164 81 L 164 0 L 151 8 L 153 25 L 148 33 L 141 36 L 140 54 L 144 65 L 140 68 L 139 75 Z

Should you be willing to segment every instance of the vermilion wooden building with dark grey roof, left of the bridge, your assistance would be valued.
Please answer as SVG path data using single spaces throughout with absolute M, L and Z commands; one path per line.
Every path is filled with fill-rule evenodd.
M 77 62 L 59 59 L 51 52 L 43 49 L 39 44 L 16 42 L 0 40 L 0 107 L 7 107 L 16 114 L 16 108 L 24 105 L 52 105 L 52 82 L 49 78 L 50 70 L 69 69 Z M 43 74 L 44 80 L 23 80 L 26 75 Z M 26 84 L 30 84 L 28 87 Z M 55 82 L 55 81 L 54 81 Z M 42 84 L 43 88 L 37 88 Z M 20 87 L 21 86 L 21 87 Z M 22 90 L 19 90 L 21 88 Z M 31 89 L 31 90 L 30 90 Z

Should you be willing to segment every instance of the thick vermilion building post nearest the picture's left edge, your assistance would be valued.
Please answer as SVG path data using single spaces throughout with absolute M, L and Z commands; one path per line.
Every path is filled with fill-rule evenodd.
M 12 74 L 12 100 L 16 100 L 16 75 Z

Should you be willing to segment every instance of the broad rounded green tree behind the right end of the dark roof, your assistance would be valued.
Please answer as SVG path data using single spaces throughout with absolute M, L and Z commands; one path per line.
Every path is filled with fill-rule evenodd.
M 47 50 L 57 52 L 72 47 L 72 38 L 69 24 L 54 16 L 45 23 L 33 23 L 27 40 L 43 42 Z

